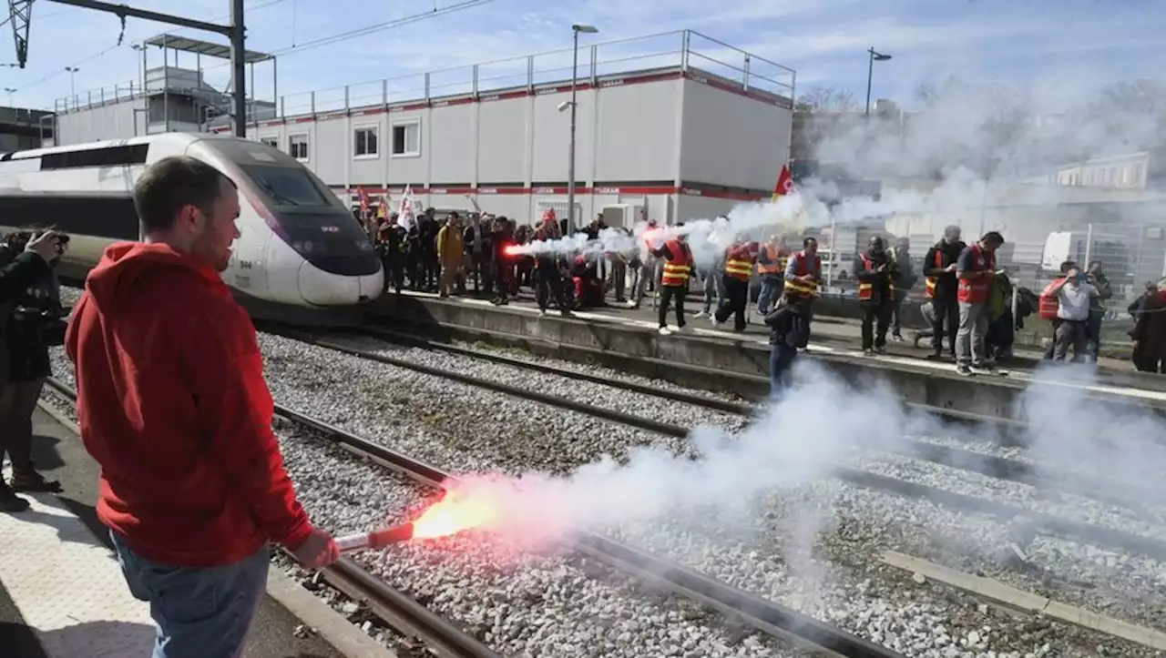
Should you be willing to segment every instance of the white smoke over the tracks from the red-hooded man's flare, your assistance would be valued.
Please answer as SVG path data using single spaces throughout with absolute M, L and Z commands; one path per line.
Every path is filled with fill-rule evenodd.
M 840 464 L 861 453 L 909 452 L 912 437 L 953 433 L 933 417 L 905 408 L 886 382 L 862 382 L 862 395 L 855 395 L 854 382 L 812 361 L 798 362 L 795 380 L 737 437 L 721 429 L 694 429 L 690 440 L 698 459 L 641 447 L 624 464 L 603 459 L 568 476 L 469 475 L 459 489 L 490 501 L 498 510 L 490 530 L 520 543 L 549 544 L 577 529 L 603 531 L 693 516 L 716 519 L 718 531 L 731 532 L 747 503 L 759 496 L 781 496 L 829 480 Z M 1065 385 L 1069 383 L 1089 385 L 1093 377 L 1086 368 L 1061 366 L 1023 392 L 1018 410 L 1031 430 L 1017 438 L 1030 444 L 1028 455 L 1042 475 L 1104 474 L 1110 494 L 1137 500 L 1139 488 L 1151 487 L 1154 474 L 1166 470 L 1166 425 L 1151 412 L 1115 416 L 1098 411 L 1096 403 L 1081 404 L 1084 394 Z M 1118 436 L 1117 427 L 1136 433 L 1123 430 Z M 965 432 L 970 440 L 998 438 L 993 429 Z M 795 543 L 812 540 L 829 516 L 828 509 L 807 512 L 813 514 L 789 529 Z

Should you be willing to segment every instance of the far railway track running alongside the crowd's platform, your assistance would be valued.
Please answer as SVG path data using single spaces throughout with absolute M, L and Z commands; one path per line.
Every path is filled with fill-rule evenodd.
M 665 436 L 676 437 L 676 438 L 686 438 L 689 436 L 690 432 L 689 427 L 684 427 L 681 425 L 662 423 L 660 420 L 644 418 L 632 413 L 616 411 L 612 409 L 597 406 L 585 402 L 568 399 L 521 385 L 476 377 L 464 373 L 449 372 L 427 365 L 415 363 L 406 359 L 386 356 L 384 354 L 378 354 L 374 352 L 370 352 L 367 349 L 359 349 L 356 347 L 343 345 L 333 340 L 326 340 L 318 337 L 304 334 L 301 331 L 281 330 L 278 333 L 281 333 L 287 338 L 301 340 L 311 345 L 316 345 L 326 349 L 332 349 L 360 359 L 375 361 L 387 366 L 400 367 L 417 373 L 442 377 L 450 381 L 456 381 L 468 385 L 492 390 L 496 392 L 501 392 L 518 398 L 528 399 L 532 402 L 548 404 L 560 409 L 568 409 L 571 411 L 576 411 L 580 413 L 584 413 L 588 416 L 602 418 L 614 423 L 621 423 L 624 425 L 628 425 L 649 432 L 658 432 Z M 676 402 L 682 402 L 687 404 L 693 404 L 739 416 L 752 416 L 757 411 L 756 406 L 745 403 L 712 399 L 703 396 L 695 396 L 682 391 L 656 389 L 654 387 L 647 387 L 633 382 L 612 381 L 588 373 L 580 373 L 577 370 L 571 370 L 571 369 L 555 368 L 553 366 L 548 366 L 545 363 L 533 363 L 529 361 L 514 359 L 501 354 L 482 353 L 464 347 L 452 346 L 443 342 L 429 341 L 420 337 L 388 332 L 386 330 L 368 328 L 368 330 L 353 331 L 350 333 L 366 338 L 375 338 L 379 340 L 388 340 L 405 345 L 424 347 L 428 349 L 442 351 L 451 354 L 458 354 L 462 356 L 479 359 L 483 361 L 490 361 L 493 363 L 511 366 L 514 368 L 526 369 L 531 372 L 540 372 L 545 374 L 553 374 L 556 376 L 563 376 L 581 381 L 590 381 L 604 385 L 623 388 L 644 395 L 651 395 L 665 399 L 672 399 Z M 928 408 L 919 408 L 919 409 L 933 411 L 936 415 L 943 415 L 947 411 L 947 410 L 928 409 Z M 970 416 L 971 415 L 960 413 L 956 417 L 947 416 L 947 418 L 949 422 L 957 424 L 977 422 L 977 419 L 970 418 Z M 985 424 L 992 423 L 993 420 L 996 419 L 991 418 L 978 419 L 978 422 Z M 1016 423 L 1010 422 L 1010 424 L 1014 425 Z M 1129 494 L 1122 496 L 1114 495 L 1111 491 L 1116 488 L 1115 484 L 1108 484 L 1096 479 L 1040 476 L 1034 472 L 1032 466 L 1019 460 L 1004 459 L 993 455 L 984 455 L 971 451 L 951 448 L 919 440 L 912 440 L 905 445 L 906 447 L 900 448 L 897 452 L 900 452 L 906 457 L 925 459 L 928 461 L 942 464 L 944 466 L 951 466 L 964 470 L 974 470 L 992 477 L 999 477 L 1004 480 L 1011 480 L 1014 482 L 1023 482 L 1026 484 L 1033 484 L 1037 487 L 1044 487 L 1059 491 L 1065 491 L 1079 496 L 1091 497 L 1101 502 L 1121 504 L 1123 507 L 1128 507 L 1131 509 L 1139 509 L 1142 507 L 1138 502 L 1139 500 L 1150 500 L 1150 501 L 1163 500 L 1160 493 L 1154 493 L 1149 490 L 1145 491 L 1144 494 L 1140 491 L 1133 493 L 1132 494 L 1133 500 L 1130 500 L 1131 496 Z M 1083 540 L 1086 543 L 1094 545 L 1116 547 L 1126 552 L 1144 554 L 1158 560 L 1166 560 L 1166 542 L 1163 542 L 1157 538 L 1145 537 L 1132 532 L 1125 532 L 1079 521 L 1067 519 L 1056 515 L 1030 510 L 1010 503 L 997 502 L 972 495 L 949 491 L 940 487 L 909 482 L 897 477 L 870 473 L 857 468 L 837 467 L 834 472 L 834 475 L 847 482 L 861 487 L 891 491 L 908 497 L 927 498 L 929 501 L 950 507 L 953 509 L 960 509 L 975 514 L 991 515 L 998 518 L 1024 519 L 1023 526 L 1017 528 L 1019 536 L 1024 536 L 1026 533 L 1052 535 L 1076 540 Z M 1142 495 L 1144 495 L 1145 497 L 1139 498 L 1138 496 Z

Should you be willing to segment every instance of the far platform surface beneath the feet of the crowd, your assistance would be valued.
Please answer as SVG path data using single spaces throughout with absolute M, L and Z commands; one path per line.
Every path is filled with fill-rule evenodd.
M 431 292 L 405 290 L 401 293 L 426 300 L 437 300 L 437 295 Z M 487 299 L 476 298 L 470 295 L 461 297 L 451 296 L 448 299 L 442 299 L 442 302 L 479 307 L 483 312 L 508 311 L 536 314 L 538 307 L 533 302 L 528 300 L 527 297 L 527 295 L 524 295 L 518 300 L 512 300 L 510 304 L 501 307 L 494 306 Z M 731 324 L 714 327 L 708 318 L 695 318 L 694 313 L 700 311 L 700 305 L 694 306 L 691 304 L 686 304 L 684 311 L 688 331 L 684 333 L 673 333 L 668 338 L 676 340 L 691 338 L 729 340 L 746 345 L 752 344 L 757 346 L 765 346 L 766 348 L 768 346 L 768 331 L 765 328 L 765 325 L 760 323 L 756 313 L 752 314 L 752 321 L 746 327 L 745 332 L 738 333 L 731 330 Z M 553 314 L 557 316 L 557 313 Z M 605 323 L 609 325 L 628 327 L 630 330 L 655 331 L 659 327 L 656 311 L 651 307 L 651 297 L 645 297 L 644 304 L 640 309 L 628 309 L 612 304 L 599 309 L 576 311 L 574 316 L 580 320 Z M 669 310 L 668 323 L 670 327 L 675 328 L 675 310 Z M 864 356 L 861 346 L 857 342 L 858 331 L 859 327 L 857 325 L 845 319 L 816 318 L 814 321 L 814 338 L 812 339 L 807 352 L 810 354 L 829 354 L 848 360 L 870 360 L 872 366 L 911 369 L 935 374 L 937 376 L 956 376 L 955 366 L 953 363 L 926 359 L 929 348 L 925 345 L 920 345 L 916 349 L 911 345 L 911 342 L 888 342 L 888 354 L 879 356 Z M 905 330 L 905 338 L 909 335 L 909 332 Z M 830 340 L 831 337 L 833 340 Z M 1112 361 L 1112 365 L 1110 361 Z M 1024 385 L 1037 378 L 1037 373 L 1030 368 L 1010 366 L 1004 372 L 1007 373 L 1006 377 L 978 376 L 976 380 L 983 381 L 984 383 L 990 383 L 993 380 L 1007 380 L 1007 382 Z M 1166 402 L 1166 377 L 1132 372 L 1132 369 L 1129 369 L 1128 365 L 1116 360 L 1103 360 L 1097 376 L 1091 382 L 1079 383 L 1073 381 L 1052 381 L 1048 377 L 1041 378 L 1041 382 L 1053 387 L 1093 394 L 1112 395 L 1131 401 L 1140 399 L 1154 403 Z M 1000 381 L 1000 383 L 1005 382 Z

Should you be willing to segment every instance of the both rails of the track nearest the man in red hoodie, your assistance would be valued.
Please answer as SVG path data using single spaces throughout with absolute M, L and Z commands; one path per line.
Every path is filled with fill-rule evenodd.
M 76 401 L 76 392 L 62 382 L 50 377 L 48 384 L 58 395 Z M 458 482 L 456 476 L 434 466 L 292 409 L 276 405 L 275 413 L 285 422 L 303 427 L 339 445 L 347 452 L 406 475 L 420 484 L 445 488 Z M 905 658 L 902 653 L 859 638 L 796 610 L 600 535 L 580 531 L 573 542 L 571 547 L 581 553 L 602 560 L 624 573 L 673 594 L 698 602 L 738 623 L 798 646 L 806 651 L 807 656 Z M 437 649 L 440 656 L 452 658 L 499 656 L 449 621 L 377 579 L 350 558 L 342 558 L 323 573 L 333 587 L 353 600 L 367 604 L 387 625 L 422 638 L 427 645 Z

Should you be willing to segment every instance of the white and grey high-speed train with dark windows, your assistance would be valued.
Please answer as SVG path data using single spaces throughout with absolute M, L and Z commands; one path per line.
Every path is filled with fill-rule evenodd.
M 254 316 L 347 323 L 381 293 L 380 260 L 345 204 L 295 158 L 234 136 L 166 133 L 2 154 L 0 231 L 51 225 L 70 234 L 59 269 L 80 278 L 107 245 L 141 239 L 134 183 L 149 164 L 183 154 L 239 189 L 241 235 L 223 280 Z

